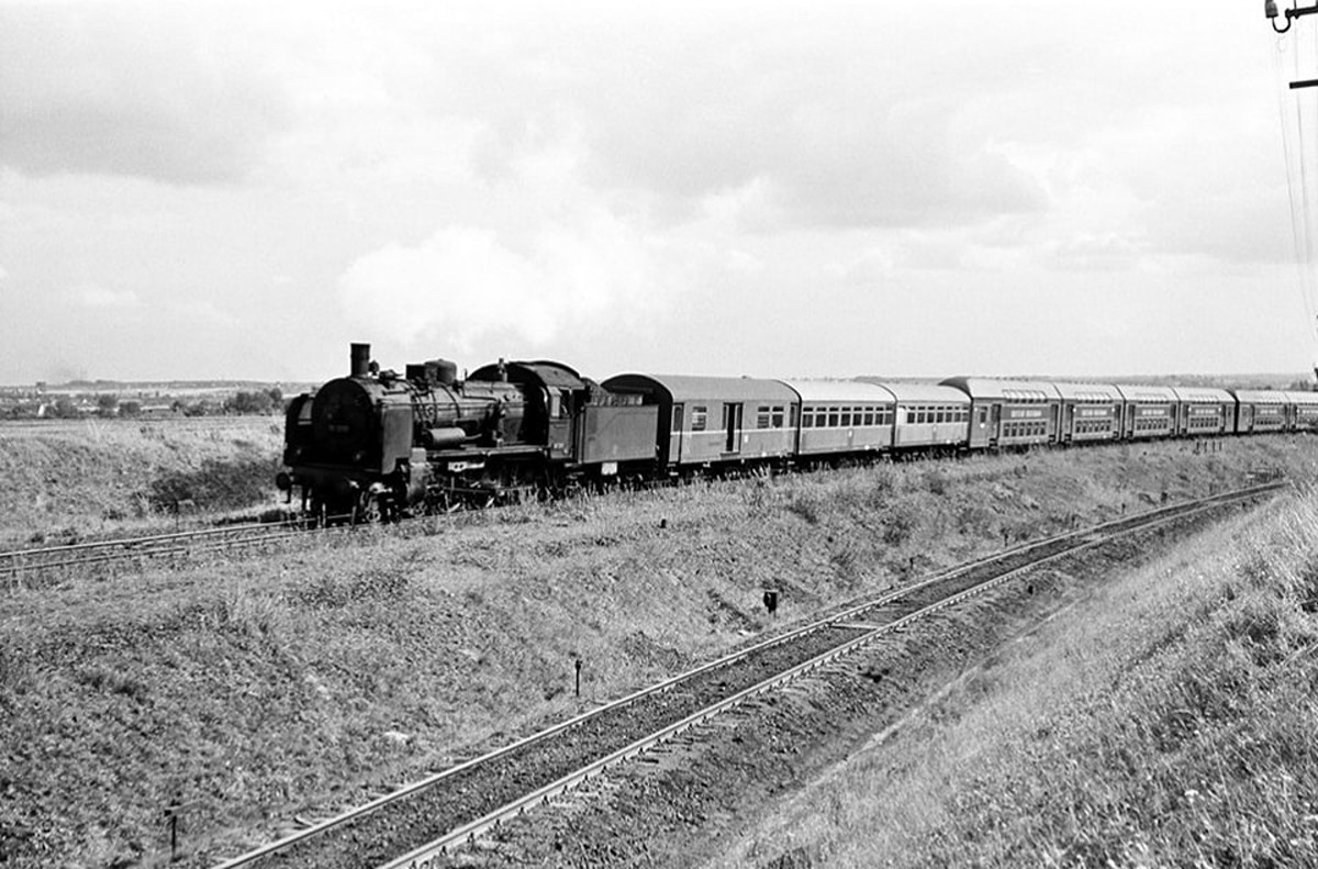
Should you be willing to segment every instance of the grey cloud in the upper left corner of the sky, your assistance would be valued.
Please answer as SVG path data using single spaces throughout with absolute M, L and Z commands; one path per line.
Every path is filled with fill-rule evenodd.
M 0 165 L 241 179 L 283 119 L 244 20 L 211 5 L 0 8 Z

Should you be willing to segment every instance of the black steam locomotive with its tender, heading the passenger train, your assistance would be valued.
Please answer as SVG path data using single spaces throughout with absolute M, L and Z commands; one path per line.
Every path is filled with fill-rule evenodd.
M 275 483 L 312 516 L 391 518 L 556 493 L 654 459 L 652 409 L 552 361 L 448 360 L 380 371 L 352 344 L 347 377 L 294 398 Z

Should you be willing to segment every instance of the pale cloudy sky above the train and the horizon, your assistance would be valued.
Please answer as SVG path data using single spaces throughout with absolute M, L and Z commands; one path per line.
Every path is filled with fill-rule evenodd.
M 0 384 L 1298 375 L 1315 45 L 1256 0 L 0 0 Z

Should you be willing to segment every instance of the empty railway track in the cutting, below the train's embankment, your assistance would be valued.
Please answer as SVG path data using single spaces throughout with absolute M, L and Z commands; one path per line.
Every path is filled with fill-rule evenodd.
M 430 775 L 256 851 L 241 866 L 422 869 L 456 845 L 743 702 L 859 651 L 973 595 L 1139 531 L 1259 498 L 1269 483 L 1021 545 L 917 584 L 854 600 L 540 733 Z

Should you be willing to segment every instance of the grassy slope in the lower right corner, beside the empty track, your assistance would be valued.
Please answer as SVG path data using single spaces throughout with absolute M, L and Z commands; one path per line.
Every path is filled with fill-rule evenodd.
M 720 865 L 1314 865 L 1318 492 L 1223 531 L 1006 650 Z

